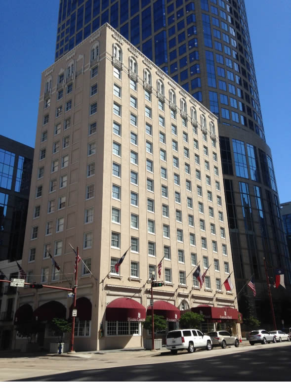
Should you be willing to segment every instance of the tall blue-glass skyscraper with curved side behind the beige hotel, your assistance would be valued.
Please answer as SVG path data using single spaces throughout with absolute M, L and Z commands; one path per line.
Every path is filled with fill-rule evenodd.
M 284 267 L 288 284 L 291 266 L 244 0 L 61 0 L 55 58 L 105 22 L 218 117 L 236 284 L 254 275 L 253 308 L 267 324 L 263 257 L 270 276 Z

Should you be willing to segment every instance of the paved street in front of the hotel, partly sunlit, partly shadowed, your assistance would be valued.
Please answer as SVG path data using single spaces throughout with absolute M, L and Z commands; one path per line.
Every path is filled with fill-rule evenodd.
M 290 343 L 0 359 L 1 381 L 290 381 Z M 110 369 L 109 369 L 110 368 Z

